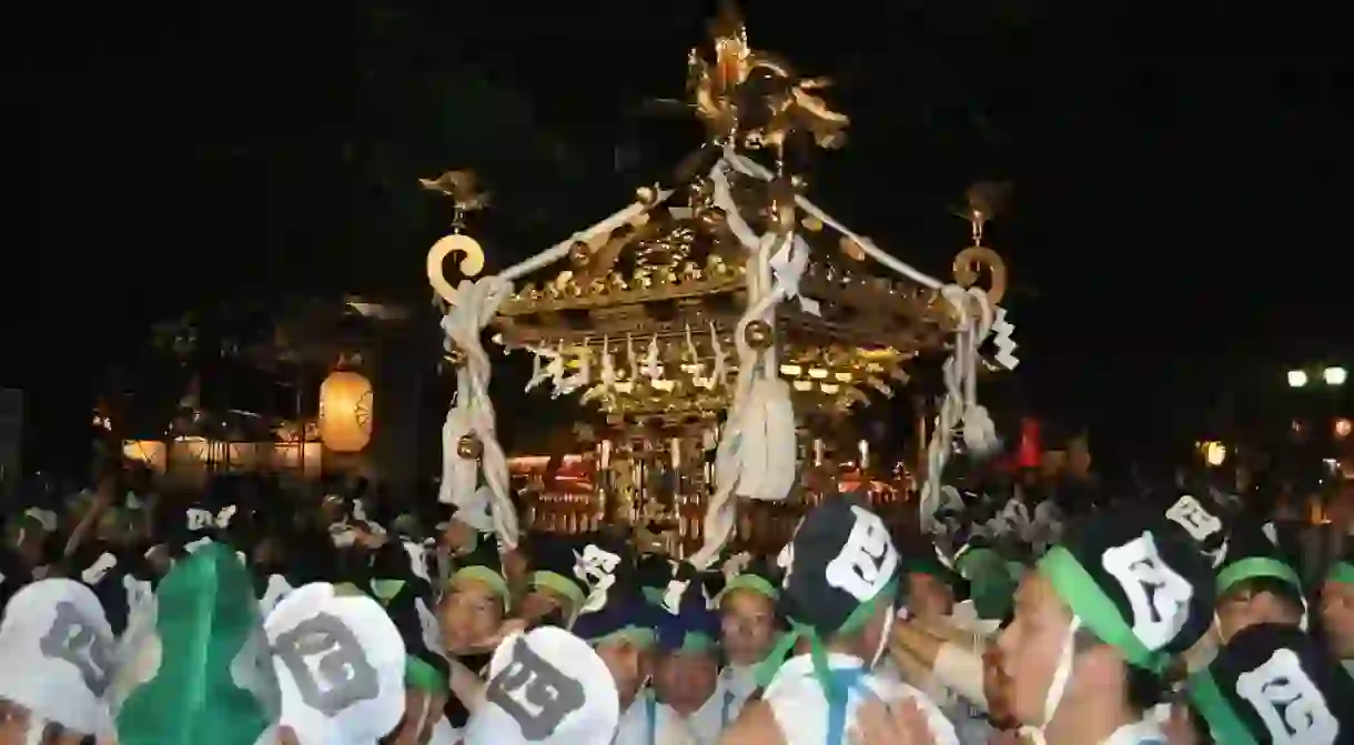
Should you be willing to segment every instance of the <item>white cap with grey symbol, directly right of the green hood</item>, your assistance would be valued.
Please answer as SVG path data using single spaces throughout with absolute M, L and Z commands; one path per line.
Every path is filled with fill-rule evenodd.
M 405 642 L 364 595 L 314 582 L 288 595 L 264 622 L 282 688 L 279 726 L 301 745 L 370 745 L 405 712 Z

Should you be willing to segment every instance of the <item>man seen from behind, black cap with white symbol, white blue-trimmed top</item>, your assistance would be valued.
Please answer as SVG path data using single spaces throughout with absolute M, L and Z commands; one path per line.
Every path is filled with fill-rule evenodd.
M 827 500 L 800 523 L 780 563 L 780 607 L 791 630 L 761 670 L 762 698 L 743 707 L 722 742 L 839 745 L 860 703 L 875 695 L 915 699 L 933 742 L 956 744 L 953 726 L 919 691 L 872 672 L 898 596 L 898 551 L 883 520 L 856 496 Z

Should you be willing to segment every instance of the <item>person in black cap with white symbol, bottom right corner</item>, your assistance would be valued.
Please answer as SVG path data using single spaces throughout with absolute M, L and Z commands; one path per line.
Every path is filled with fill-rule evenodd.
M 1354 742 L 1354 679 L 1293 624 L 1239 630 L 1189 696 L 1219 744 Z

